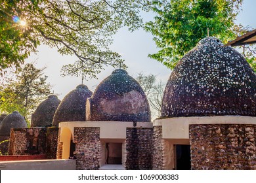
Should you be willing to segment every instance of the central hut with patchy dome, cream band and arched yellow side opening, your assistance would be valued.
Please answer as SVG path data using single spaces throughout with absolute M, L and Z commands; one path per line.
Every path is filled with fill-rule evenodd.
M 98 85 L 87 99 L 86 116 L 86 122 L 59 124 L 57 158 L 75 154 L 77 169 L 152 169 L 150 107 L 125 70 L 116 69 Z

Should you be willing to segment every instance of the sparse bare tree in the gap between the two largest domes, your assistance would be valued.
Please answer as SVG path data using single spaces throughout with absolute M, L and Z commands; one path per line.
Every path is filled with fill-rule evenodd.
M 163 84 L 161 81 L 158 82 L 156 75 L 152 74 L 146 76 L 143 73 L 139 73 L 136 80 L 139 82 L 146 94 L 152 110 L 152 116 L 159 117 L 161 114 L 161 103 L 163 100 L 163 90 L 165 84 Z

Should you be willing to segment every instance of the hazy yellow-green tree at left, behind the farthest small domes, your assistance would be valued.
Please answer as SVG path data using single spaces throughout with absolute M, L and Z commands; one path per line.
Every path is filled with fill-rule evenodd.
M 43 70 L 37 69 L 33 63 L 22 67 L 13 77 L 6 79 L 0 87 L 0 111 L 11 113 L 18 110 L 29 120 L 33 110 L 51 94 L 51 85 L 46 82 Z

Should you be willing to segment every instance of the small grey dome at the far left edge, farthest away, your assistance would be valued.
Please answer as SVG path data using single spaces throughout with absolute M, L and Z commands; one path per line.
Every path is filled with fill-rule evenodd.
M 12 127 L 28 127 L 24 117 L 18 111 L 5 117 L 0 125 L 0 136 L 9 136 Z

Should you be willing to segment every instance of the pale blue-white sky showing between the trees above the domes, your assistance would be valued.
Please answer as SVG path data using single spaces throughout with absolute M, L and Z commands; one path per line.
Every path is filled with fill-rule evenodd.
M 249 25 L 253 29 L 256 28 L 255 18 L 256 0 L 244 0 L 242 11 L 237 16 L 236 22 L 242 25 Z M 153 14 L 142 14 L 144 21 L 153 20 Z M 158 52 L 158 48 L 154 43 L 153 36 L 150 33 L 146 33 L 143 29 L 129 32 L 127 28 L 123 27 L 119 29 L 116 35 L 114 35 L 114 42 L 110 46 L 114 52 L 121 54 L 125 59 L 125 64 L 128 69 L 127 72 L 133 78 L 136 78 L 138 73 L 142 72 L 144 75 L 156 75 L 158 80 L 166 83 L 171 70 L 167 69 L 160 62 L 148 58 L 148 54 L 154 54 Z M 77 58 L 75 56 L 62 56 L 56 50 L 56 48 L 49 48 L 48 46 L 41 45 L 38 47 L 37 54 L 32 54 L 30 58 L 26 59 L 26 63 L 32 63 L 36 61 L 36 67 L 47 67 L 45 69 L 45 75 L 48 76 L 47 82 L 53 85 L 53 92 L 58 94 L 59 99 L 74 90 L 75 87 L 81 84 L 81 78 L 75 76 L 61 76 L 61 68 L 63 65 L 74 63 Z M 107 76 L 111 75 L 114 71 L 113 67 L 106 67 L 100 74 L 97 75 L 98 79 L 91 79 L 83 81 L 83 84 L 87 85 L 89 90 L 95 91 L 96 86 Z

